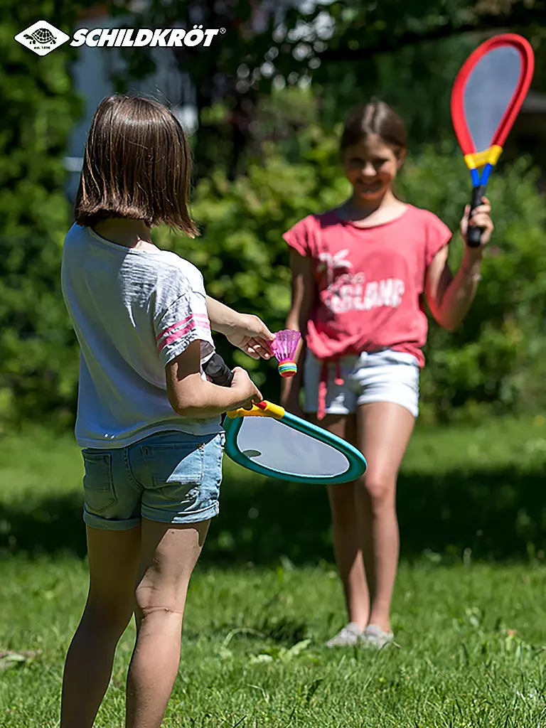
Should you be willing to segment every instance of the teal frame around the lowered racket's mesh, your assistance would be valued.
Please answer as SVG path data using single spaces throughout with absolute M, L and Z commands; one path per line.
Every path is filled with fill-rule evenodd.
M 285 411 L 285 414 L 281 419 L 277 419 L 277 422 L 289 425 L 294 430 L 302 432 L 304 435 L 309 435 L 326 445 L 331 445 L 339 450 L 349 461 L 349 467 L 345 472 L 340 475 L 328 475 L 324 477 L 313 476 L 306 477 L 304 475 L 288 475 L 287 473 L 279 472 L 278 470 L 272 470 L 271 468 L 264 467 L 263 465 L 253 462 L 251 458 L 242 454 L 240 449 L 237 447 L 237 435 L 242 427 L 242 423 L 245 417 L 237 417 L 230 419 L 226 417 L 224 422 L 224 429 L 226 430 L 226 454 L 242 467 L 246 467 L 249 470 L 258 472 L 260 475 L 267 475 L 269 478 L 277 478 L 277 480 L 287 480 L 290 483 L 307 483 L 312 485 L 335 485 L 336 483 L 348 483 L 350 480 L 360 478 L 366 472 L 368 464 L 365 457 L 345 440 L 341 440 L 336 435 L 332 435 L 331 432 L 323 430 L 322 427 L 312 424 L 312 422 L 306 422 L 305 420 L 296 417 L 293 414 Z

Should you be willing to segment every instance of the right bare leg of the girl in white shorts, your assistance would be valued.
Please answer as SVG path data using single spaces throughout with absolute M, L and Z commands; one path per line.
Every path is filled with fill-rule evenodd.
M 368 470 L 357 483 L 361 547 L 370 591 L 369 623 L 390 630 L 390 604 L 398 563 L 396 480 L 414 429 L 414 416 L 401 405 L 373 402 L 357 412 L 358 447 Z

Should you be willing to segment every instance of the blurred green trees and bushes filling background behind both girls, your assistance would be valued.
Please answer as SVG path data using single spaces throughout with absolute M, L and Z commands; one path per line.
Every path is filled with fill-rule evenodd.
M 0 119 L 0 418 L 53 415 L 67 421 L 76 399 L 77 347 L 60 295 L 59 264 L 70 218 L 62 157 L 78 115 L 68 74 L 74 51 L 63 47 L 39 58 L 13 36 L 38 16 L 55 17 L 55 24 L 69 31 L 76 7 L 59 9 L 51 0 L 32 7 L 14 0 L 0 4 L 7 17 L 0 28 L 0 95 L 5 100 Z M 214 52 L 175 50 L 197 93 L 201 125 L 193 140 L 199 176 L 194 213 L 203 234 L 186 241 L 158 231 L 159 244 L 194 261 L 212 295 L 260 314 L 272 328 L 283 325 L 290 298 L 282 233 L 349 192 L 339 169 L 339 128 L 332 130 L 348 106 L 379 93 L 407 120 L 417 155 L 400 180 L 409 202 L 428 207 L 455 228 L 469 194 L 459 154 L 450 146 L 423 149 L 422 144 L 451 135 L 451 80 L 478 41 L 478 36 L 458 33 L 483 29 L 482 16 L 489 11 L 470 0 L 427 0 L 424 6 L 412 0 L 401 10 L 396 3 L 397 12 L 394 4 L 333 3 L 327 7 L 334 20 L 331 33 L 324 25 L 323 31 L 307 25 L 303 35 L 301 23 L 312 23 L 326 6 L 317 4 L 308 12 L 312 6 L 304 4 L 288 9 L 282 23 L 280 15 L 266 15 L 260 25 L 256 4 L 246 0 L 201 9 L 193 0 L 149 4 L 150 27 L 175 21 L 190 25 L 199 10 L 199 23 L 227 28 Z M 499 22 L 513 12 L 510 17 L 524 23 L 531 9 L 538 22 L 542 0 L 514 0 L 494 12 Z M 144 20 L 141 16 L 135 23 L 142 26 Z M 440 36 L 443 40 L 435 41 Z M 541 37 L 534 40 L 543 51 Z M 144 53 L 131 58 L 133 77 L 145 76 L 153 66 Z M 313 90 L 299 90 L 299 80 L 310 76 Z M 243 119 L 242 128 L 248 122 L 245 143 L 233 134 L 237 118 Z M 232 181 L 227 169 L 245 173 Z M 545 204 L 534 183 L 527 162 L 494 175 L 496 255 L 484 266 L 478 298 L 461 331 L 448 334 L 431 327 L 422 377 L 425 419 L 479 414 L 494 403 L 531 408 L 545 396 Z M 462 246 L 453 247 L 456 263 Z M 233 353 L 221 337 L 218 343 L 230 362 L 255 370 L 268 396 L 278 396 L 272 363 Z

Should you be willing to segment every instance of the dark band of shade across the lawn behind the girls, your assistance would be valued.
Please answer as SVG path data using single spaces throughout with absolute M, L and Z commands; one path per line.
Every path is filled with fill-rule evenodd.
M 461 558 L 528 558 L 546 550 L 544 472 L 451 471 L 400 475 L 402 556 L 424 550 Z M 85 554 L 81 496 L 56 496 L 0 506 L 0 550 Z M 328 499 L 323 488 L 248 478 L 229 470 L 221 514 L 213 519 L 203 563 L 293 563 L 333 560 Z

